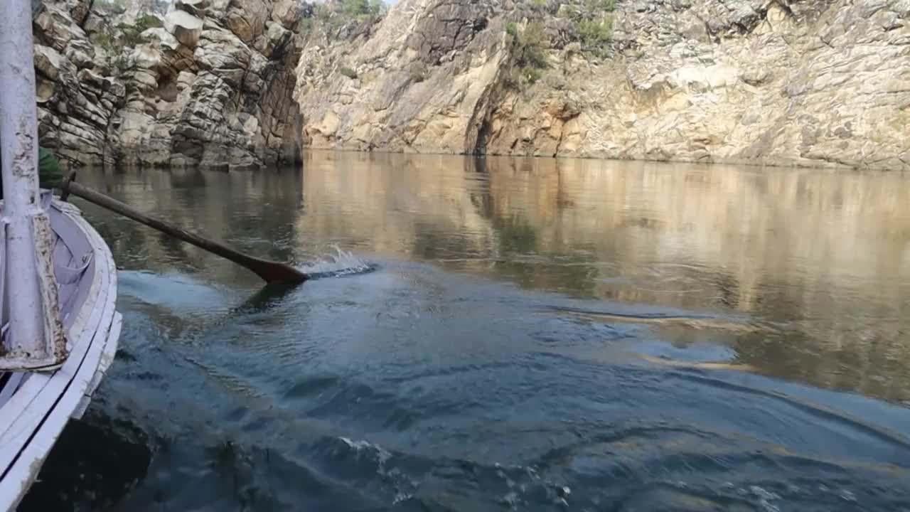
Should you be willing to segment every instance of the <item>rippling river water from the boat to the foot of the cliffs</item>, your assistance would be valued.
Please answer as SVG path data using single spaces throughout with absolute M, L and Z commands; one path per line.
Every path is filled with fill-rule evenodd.
M 80 179 L 120 351 L 23 510 L 910 510 L 910 177 L 310 152 Z

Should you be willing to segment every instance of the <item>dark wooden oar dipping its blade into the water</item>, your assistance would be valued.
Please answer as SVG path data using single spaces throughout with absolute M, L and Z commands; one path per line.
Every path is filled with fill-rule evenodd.
M 243 252 L 234 251 L 233 249 L 221 243 L 218 243 L 217 241 L 210 241 L 195 233 L 177 228 L 177 226 L 168 224 L 164 220 L 158 220 L 154 217 L 150 217 L 125 203 L 122 203 L 113 198 L 109 198 L 101 192 L 98 192 L 94 189 L 89 189 L 88 187 L 84 187 L 76 183 L 73 180 L 74 174 L 70 174 L 69 177 L 60 183 L 60 189 L 62 190 L 60 198 L 62 200 L 66 200 L 66 197 L 69 196 L 69 194 L 73 194 L 84 200 L 93 202 L 102 208 L 106 208 L 107 210 L 116 211 L 120 215 L 128 217 L 132 220 L 136 220 L 138 222 L 142 222 L 143 224 L 151 228 L 155 228 L 156 230 L 166 233 L 174 238 L 186 241 L 187 243 L 191 243 L 200 249 L 204 249 L 213 254 L 217 254 L 218 256 L 226 258 L 227 260 L 234 261 L 238 265 L 246 267 L 250 271 L 255 272 L 259 277 L 268 283 L 299 284 L 309 279 L 309 276 L 306 273 L 298 271 L 286 263 L 278 263 L 277 261 L 260 260 L 259 258 L 254 258 L 248 254 L 244 254 Z

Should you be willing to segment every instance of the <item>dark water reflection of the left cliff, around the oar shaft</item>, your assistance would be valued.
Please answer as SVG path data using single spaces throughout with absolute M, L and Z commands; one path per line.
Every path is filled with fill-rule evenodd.
M 92 187 L 139 210 L 279 261 L 294 258 L 293 216 L 302 205 L 299 170 L 86 169 Z M 225 281 L 258 282 L 233 263 L 76 199 L 115 253 L 117 266 L 154 271 L 204 269 Z

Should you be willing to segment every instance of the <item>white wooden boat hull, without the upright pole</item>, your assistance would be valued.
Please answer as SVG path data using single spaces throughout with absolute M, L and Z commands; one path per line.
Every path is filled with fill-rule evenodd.
M 15 509 L 66 422 L 85 411 L 120 335 L 110 249 L 75 206 L 43 199 L 68 354 L 54 371 L 0 375 L 0 510 Z

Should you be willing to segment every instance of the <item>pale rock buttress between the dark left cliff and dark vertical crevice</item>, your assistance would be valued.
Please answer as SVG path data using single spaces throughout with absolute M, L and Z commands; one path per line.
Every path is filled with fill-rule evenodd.
M 353 42 L 310 42 L 297 98 L 314 148 L 473 148 L 507 52 L 496 2 L 400 0 Z M 483 29 L 492 19 L 494 26 Z M 349 51 L 346 51 L 349 50 Z M 356 77 L 342 73 L 343 68 Z

